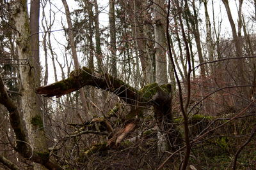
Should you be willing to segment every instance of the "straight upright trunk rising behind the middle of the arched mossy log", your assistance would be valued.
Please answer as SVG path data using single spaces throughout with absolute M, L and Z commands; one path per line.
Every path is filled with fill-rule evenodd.
M 117 77 L 115 0 L 109 0 L 109 34 L 111 50 L 111 73 Z

